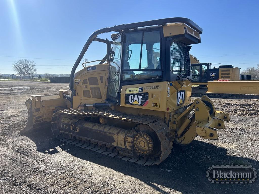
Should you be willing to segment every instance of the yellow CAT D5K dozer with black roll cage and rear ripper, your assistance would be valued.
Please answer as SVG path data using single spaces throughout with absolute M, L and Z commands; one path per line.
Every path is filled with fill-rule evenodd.
M 116 32 L 113 41 L 97 38 L 105 32 Z M 200 43 L 201 33 L 186 18 L 94 32 L 71 71 L 71 98 L 64 90 L 32 96 L 25 131 L 50 121 L 58 140 L 141 165 L 160 164 L 173 143 L 187 145 L 198 135 L 217 140 L 229 115 L 207 96 L 191 101 L 188 45 Z M 93 41 L 106 43 L 106 56 L 75 73 Z

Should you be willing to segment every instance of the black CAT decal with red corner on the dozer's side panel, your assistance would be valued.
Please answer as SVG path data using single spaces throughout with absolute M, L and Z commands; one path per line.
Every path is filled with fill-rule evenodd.
M 148 104 L 148 92 L 126 94 L 125 104 L 146 106 Z

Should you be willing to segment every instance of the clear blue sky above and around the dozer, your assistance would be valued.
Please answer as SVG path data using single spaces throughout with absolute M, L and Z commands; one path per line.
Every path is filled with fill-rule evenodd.
M 69 74 L 95 30 L 169 17 L 186 17 L 203 28 L 201 43 L 190 51 L 200 62 L 242 70 L 259 63 L 258 8 L 258 1 L 0 0 L 0 72 L 14 73 L 12 63 L 25 57 L 36 62 L 37 73 Z M 103 58 L 106 48 L 99 46 L 105 47 L 89 47 L 88 61 Z

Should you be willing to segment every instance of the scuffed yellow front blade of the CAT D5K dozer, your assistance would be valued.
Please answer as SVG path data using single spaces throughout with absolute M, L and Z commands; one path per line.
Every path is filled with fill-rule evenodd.
M 59 94 L 32 95 L 25 101 L 28 109 L 28 121 L 21 133 L 36 129 L 46 123 L 50 124 L 52 115 L 56 111 L 71 108 L 69 96 L 67 90 L 60 90 Z

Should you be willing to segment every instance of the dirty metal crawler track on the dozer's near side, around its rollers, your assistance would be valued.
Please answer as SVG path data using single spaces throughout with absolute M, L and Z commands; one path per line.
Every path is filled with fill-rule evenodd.
M 59 129 L 59 120 L 63 116 L 69 116 L 70 118 L 98 118 L 105 117 L 109 120 L 117 120 L 126 123 L 133 123 L 138 126 L 149 127 L 155 132 L 157 138 L 160 141 L 160 154 L 153 156 L 142 156 L 138 155 L 137 157 L 132 157 L 127 155 L 121 151 L 120 149 L 116 149 L 116 146 L 111 147 L 108 143 L 100 144 L 100 141 L 95 141 L 93 139 L 88 139 L 87 137 L 78 138 L 73 136 L 72 134 L 68 134 L 67 132 L 63 132 Z M 91 124 L 91 122 L 89 122 Z M 95 125 L 95 123 L 93 123 Z M 103 126 L 103 124 L 102 124 Z M 112 127 L 112 126 L 108 126 Z M 153 116 L 140 116 L 140 115 L 132 115 L 121 113 L 113 110 L 82 110 L 82 109 L 66 109 L 57 111 L 51 119 L 51 129 L 53 135 L 60 141 L 69 143 L 71 145 L 75 145 L 81 148 L 85 148 L 87 150 L 95 151 L 98 153 L 102 153 L 111 157 L 115 157 L 121 160 L 137 163 L 140 165 L 159 165 L 163 160 L 165 160 L 168 155 L 171 153 L 172 149 L 172 136 L 170 135 L 170 131 L 168 126 L 161 120 L 161 118 L 153 117 Z M 130 130 L 129 132 L 130 133 Z M 145 134 L 145 132 L 144 132 Z M 69 135 L 69 138 L 68 138 Z M 66 137 L 64 137 L 66 136 Z

